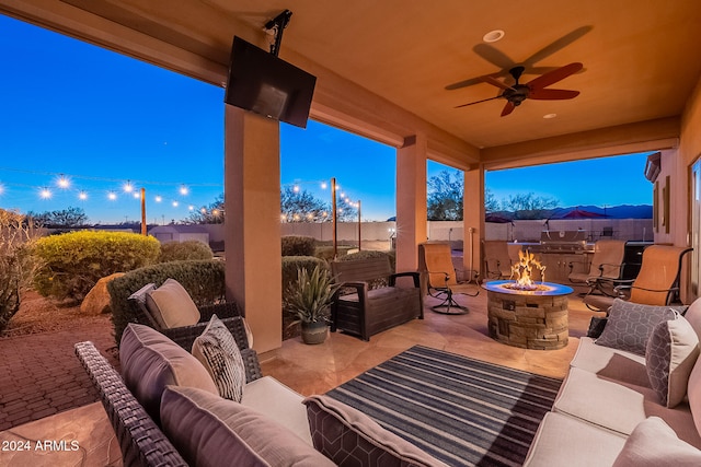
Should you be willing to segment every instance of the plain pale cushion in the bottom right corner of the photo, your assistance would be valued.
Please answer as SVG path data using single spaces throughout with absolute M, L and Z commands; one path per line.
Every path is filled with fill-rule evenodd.
M 697 467 L 701 451 L 677 437 L 658 417 L 640 423 L 625 441 L 613 467 Z

